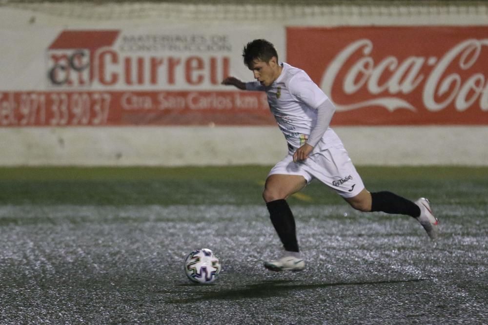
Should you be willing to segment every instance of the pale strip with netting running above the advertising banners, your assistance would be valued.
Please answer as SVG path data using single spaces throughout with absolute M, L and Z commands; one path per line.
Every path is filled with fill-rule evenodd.
M 488 21 L 488 1 L 29 1 L 0 0 L 0 8 L 21 10 L 54 20 L 153 20 L 165 22 L 259 22 L 293 24 L 354 24 L 367 17 L 418 19 L 426 17 L 479 17 Z M 57 19 L 56 19 L 57 18 Z M 324 20 L 327 19 L 327 20 Z M 427 19 L 428 20 L 428 19 Z M 420 21 L 422 22 L 422 21 Z M 427 21 L 428 22 L 428 21 Z M 466 21 L 465 24 L 473 21 Z M 32 23 L 32 21 L 31 21 Z M 371 23 L 374 23 L 372 21 Z M 447 21 L 449 23 L 449 21 Z M 477 23 L 477 21 L 474 21 Z

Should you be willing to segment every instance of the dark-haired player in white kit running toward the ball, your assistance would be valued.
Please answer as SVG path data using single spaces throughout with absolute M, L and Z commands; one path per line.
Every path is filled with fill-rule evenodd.
M 229 76 L 222 83 L 266 92 L 269 109 L 288 144 L 288 154 L 271 169 L 263 191 L 271 223 L 285 251 L 277 260 L 265 262 L 265 268 L 273 271 L 305 268 L 295 219 L 286 198 L 313 179 L 335 190 L 356 210 L 409 215 L 431 239 L 436 239 L 438 221 L 426 198 L 414 203 L 389 191 L 366 190 L 341 139 L 329 127 L 334 104 L 305 71 L 280 62 L 273 44 L 265 39 L 247 43 L 243 58 L 256 81 L 243 82 Z

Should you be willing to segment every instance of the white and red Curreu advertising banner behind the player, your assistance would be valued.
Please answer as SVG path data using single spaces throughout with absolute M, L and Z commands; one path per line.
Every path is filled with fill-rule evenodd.
M 221 85 L 252 79 L 242 49 L 254 38 L 285 49 L 285 30 L 131 28 L 3 31 L 0 126 L 269 125 L 262 92 Z

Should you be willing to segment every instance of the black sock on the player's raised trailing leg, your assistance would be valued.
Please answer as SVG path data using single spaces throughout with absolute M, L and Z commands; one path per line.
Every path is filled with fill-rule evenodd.
M 388 191 L 371 193 L 371 211 L 406 214 L 414 218 L 420 215 L 420 208 L 415 203 Z

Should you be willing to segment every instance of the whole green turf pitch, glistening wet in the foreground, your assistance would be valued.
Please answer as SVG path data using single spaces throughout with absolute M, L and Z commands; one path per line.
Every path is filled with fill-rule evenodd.
M 487 324 L 488 168 L 358 168 L 429 198 L 436 243 L 310 184 L 289 199 L 298 273 L 262 266 L 281 246 L 268 170 L 0 168 L 0 324 Z M 213 285 L 184 275 L 196 248 L 222 262 Z

